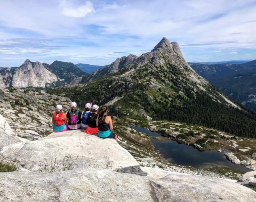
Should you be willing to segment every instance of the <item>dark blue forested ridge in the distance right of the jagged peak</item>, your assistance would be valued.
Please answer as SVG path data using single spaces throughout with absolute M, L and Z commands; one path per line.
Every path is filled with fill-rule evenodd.
M 189 64 L 214 86 L 256 111 L 256 60 L 242 64 Z

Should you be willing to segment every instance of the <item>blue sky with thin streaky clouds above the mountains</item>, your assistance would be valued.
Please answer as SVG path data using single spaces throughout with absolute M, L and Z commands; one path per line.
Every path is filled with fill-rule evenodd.
M 163 37 L 187 61 L 256 59 L 256 0 L 0 0 L 0 67 L 106 65 Z

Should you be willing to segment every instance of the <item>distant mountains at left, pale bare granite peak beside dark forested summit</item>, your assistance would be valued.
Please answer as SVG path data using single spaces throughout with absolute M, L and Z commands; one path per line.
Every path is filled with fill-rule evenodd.
M 0 68 L 0 88 L 60 86 L 84 74 L 73 63 L 54 61 L 48 65 L 26 59 L 20 67 Z

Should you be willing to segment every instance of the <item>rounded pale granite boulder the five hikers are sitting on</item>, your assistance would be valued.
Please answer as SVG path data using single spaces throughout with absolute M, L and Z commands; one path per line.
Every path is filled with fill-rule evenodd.
M 36 141 L 9 145 L 0 153 L 30 171 L 93 167 L 143 174 L 138 162 L 114 139 L 101 139 L 82 130 L 52 133 Z

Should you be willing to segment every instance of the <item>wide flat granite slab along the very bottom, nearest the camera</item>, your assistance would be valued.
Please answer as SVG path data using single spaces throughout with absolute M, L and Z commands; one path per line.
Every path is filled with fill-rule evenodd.
M 2 201 L 256 201 L 256 192 L 220 178 L 172 173 L 154 176 L 93 168 L 52 173 L 0 173 Z

